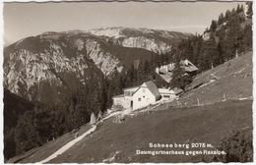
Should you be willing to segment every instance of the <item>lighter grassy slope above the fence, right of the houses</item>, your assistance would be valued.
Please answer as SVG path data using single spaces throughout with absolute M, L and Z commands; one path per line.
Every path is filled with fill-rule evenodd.
M 214 80 L 214 77 L 219 79 L 208 83 L 210 80 Z M 206 85 L 193 89 L 200 83 Z M 248 52 L 199 74 L 187 87 L 188 91 L 178 101 L 183 106 L 190 106 L 197 104 L 197 98 L 200 104 L 209 104 L 224 100 L 224 95 L 226 99 L 251 97 L 252 83 L 252 52 Z M 175 102 L 172 104 L 175 105 Z

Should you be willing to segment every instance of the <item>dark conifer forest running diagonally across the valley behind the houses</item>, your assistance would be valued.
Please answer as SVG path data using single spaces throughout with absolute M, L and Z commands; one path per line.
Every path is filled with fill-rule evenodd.
M 180 60 L 188 59 L 203 72 L 251 51 L 252 2 L 248 3 L 248 7 L 247 16 L 240 5 L 227 10 L 218 20 L 212 21 L 204 34 L 183 39 L 170 52 L 152 54 L 151 58 L 140 60 L 138 66 L 131 65 L 121 74 L 116 71 L 112 78 L 79 86 L 59 104 L 31 103 L 5 89 L 5 159 L 41 146 L 88 123 L 92 112 L 97 114 L 109 109 L 112 96 L 121 94 L 124 87 L 152 80 L 156 67 L 170 62 L 178 64 Z M 192 81 L 192 78 L 182 77 L 183 72 L 177 65 L 170 87 L 184 90 L 185 85 Z

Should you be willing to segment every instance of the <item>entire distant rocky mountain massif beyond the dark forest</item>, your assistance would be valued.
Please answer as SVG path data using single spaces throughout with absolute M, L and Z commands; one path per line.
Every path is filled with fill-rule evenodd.
M 167 52 L 190 34 L 147 28 L 98 28 L 45 32 L 4 50 L 4 86 L 28 100 L 56 103 L 65 93 L 103 76 L 123 72 L 133 61 Z

